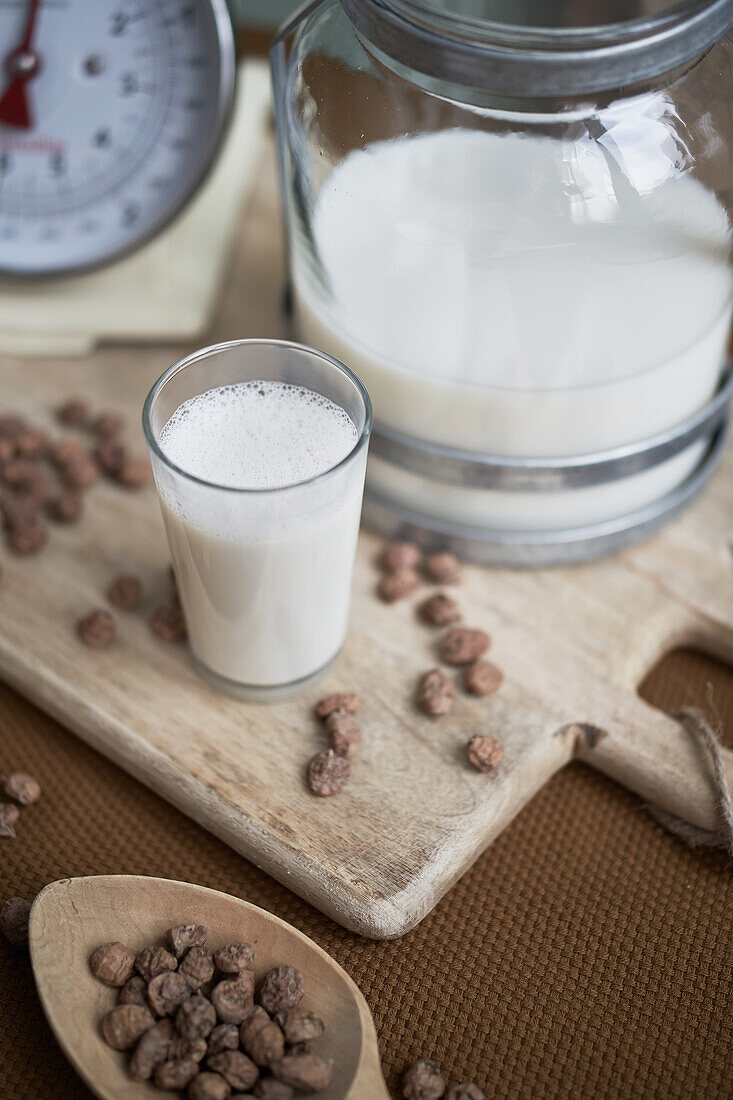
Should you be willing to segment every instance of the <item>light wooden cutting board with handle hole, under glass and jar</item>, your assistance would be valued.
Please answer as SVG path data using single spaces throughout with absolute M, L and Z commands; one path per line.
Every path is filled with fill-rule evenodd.
M 270 151 L 207 342 L 280 333 L 276 226 Z M 0 407 L 51 425 L 48 410 L 81 394 L 99 409 L 125 408 L 139 431 L 150 384 L 186 350 L 3 360 Z M 716 827 L 712 788 L 688 735 L 642 702 L 636 686 L 661 653 L 681 644 L 733 654 L 731 538 L 729 450 L 680 521 L 619 558 L 551 571 L 467 570 L 458 592 L 467 625 L 491 632 L 506 681 L 485 700 L 459 692 L 455 712 L 431 719 L 413 705 L 439 636 L 414 613 L 429 590 L 396 606 L 379 603 L 379 541 L 364 534 L 349 641 L 322 685 L 363 696 L 364 745 L 351 783 L 329 800 L 314 798 L 304 783 L 308 759 L 324 747 L 311 717 L 321 690 L 277 706 L 233 702 L 197 678 L 184 647 L 151 635 L 146 617 L 167 593 L 168 561 L 152 490 L 96 487 L 83 524 L 55 528 L 39 558 L 3 553 L 0 675 L 340 924 L 366 936 L 400 936 L 573 757 L 688 821 Z M 119 613 L 113 646 L 86 650 L 75 623 L 105 604 L 105 588 L 120 571 L 143 579 L 144 614 Z M 579 723 L 605 736 L 566 729 Z M 495 774 L 464 762 L 463 746 L 478 732 L 505 746 Z M 22 768 L 22 746 L 18 757 Z M 733 782 L 733 754 L 726 760 Z

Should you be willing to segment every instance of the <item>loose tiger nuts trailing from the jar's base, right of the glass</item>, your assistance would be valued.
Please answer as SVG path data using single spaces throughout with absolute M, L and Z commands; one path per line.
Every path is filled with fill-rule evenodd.
M 446 551 L 423 556 L 412 542 L 393 542 L 380 556 L 382 578 L 378 593 L 386 603 L 412 595 L 423 580 L 441 585 L 459 584 L 460 562 Z M 436 592 L 417 606 L 417 616 L 430 627 L 447 627 L 437 654 L 442 664 L 461 670 L 463 690 L 470 695 L 492 695 L 504 680 L 500 668 L 485 659 L 491 638 L 484 630 L 459 626 L 461 607 L 447 592 Z M 417 684 L 416 703 L 430 717 L 449 714 L 456 703 L 456 685 L 436 666 L 423 673 Z M 470 765 L 479 771 L 493 771 L 504 756 L 504 748 L 494 737 L 478 734 L 466 746 Z

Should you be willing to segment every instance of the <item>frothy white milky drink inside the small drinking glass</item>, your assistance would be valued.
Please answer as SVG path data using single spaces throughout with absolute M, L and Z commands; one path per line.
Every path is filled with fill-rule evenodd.
M 190 647 L 225 690 L 293 685 L 341 649 L 361 436 L 320 393 L 256 378 L 195 394 L 162 426 L 153 464 Z

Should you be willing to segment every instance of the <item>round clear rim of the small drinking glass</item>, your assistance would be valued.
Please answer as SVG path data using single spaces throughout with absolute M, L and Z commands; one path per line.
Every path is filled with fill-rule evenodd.
M 303 352 L 306 352 L 308 355 L 315 355 L 317 359 L 322 360 L 325 363 L 328 363 L 330 366 L 335 367 L 341 374 L 346 375 L 349 382 L 353 384 L 354 388 L 357 389 L 357 393 L 361 397 L 361 400 L 363 402 L 364 405 L 364 425 L 361 431 L 359 432 L 359 438 L 354 443 L 354 446 L 347 454 L 343 455 L 342 459 L 339 459 L 339 461 L 335 463 L 335 465 L 329 466 L 327 470 L 322 470 L 319 474 L 314 474 L 313 477 L 306 477 L 304 481 L 291 482 L 287 485 L 274 485 L 269 488 L 264 487 L 247 488 L 239 485 L 222 485 L 220 482 L 210 481 L 208 477 L 199 477 L 197 474 L 192 473 L 190 470 L 185 470 L 183 466 L 179 466 L 176 462 L 174 462 L 169 458 L 169 455 L 165 453 L 165 451 L 163 450 L 163 448 L 161 447 L 155 437 L 155 432 L 153 431 L 153 424 L 152 424 L 153 408 L 155 406 L 155 402 L 162 394 L 167 383 L 172 378 L 174 378 L 177 374 L 179 374 L 182 371 L 185 371 L 187 366 L 190 366 L 203 359 L 210 359 L 212 356 L 221 354 L 225 351 L 230 351 L 231 349 L 234 348 L 264 348 L 264 346 L 283 348 L 300 354 Z M 292 385 L 292 383 L 288 383 L 288 385 Z M 211 388 L 216 389 L 217 387 L 211 386 Z M 303 388 L 307 389 L 308 387 L 304 385 Z M 201 391 L 201 393 L 206 392 L 207 391 L 205 389 Z M 373 424 L 374 424 L 374 413 L 372 409 L 372 399 L 369 396 L 369 391 L 366 389 L 366 386 L 361 381 L 359 375 L 354 371 L 352 371 L 351 367 L 347 366 L 346 363 L 342 363 L 340 360 L 336 359 L 333 355 L 329 355 L 325 351 L 320 351 L 320 349 L 318 348 L 310 348 L 308 344 L 297 343 L 297 341 L 295 340 L 265 340 L 265 339 L 258 339 L 256 337 L 252 339 L 227 340 L 223 341 L 222 343 L 208 344 L 206 348 L 199 348 L 197 351 L 192 352 L 188 355 L 184 355 L 183 359 L 179 359 L 176 363 L 173 363 L 172 366 L 168 366 L 163 372 L 163 374 L 153 383 L 147 393 L 147 396 L 145 397 L 142 410 L 142 426 L 145 436 L 145 441 L 152 453 L 157 459 L 160 459 L 161 462 L 168 468 L 168 470 L 172 470 L 174 473 L 179 474 L 186 481 L 194 482 L 197 485 L 204 485 L 207 488 L 215 488 L 223 493 L 236 493 L 240 495 L 244 494 L 251 496 L 266 494 L 266 493 L 286 493 L 288 490 L 303 488 L 306 485 L 314 485 L 317 482 L 330 477 L 331 474 L 335 474 L 338 470 L 341 470 L 343 466 L 348 465 L 364 449 L 364 447 L 369 442 Z

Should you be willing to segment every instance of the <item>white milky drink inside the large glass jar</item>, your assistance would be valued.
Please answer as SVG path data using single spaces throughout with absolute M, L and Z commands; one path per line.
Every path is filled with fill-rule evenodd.
M 295 253 L 303 338 L 359 371 L 381 425 L 444 447 L 562 458 L 680 424 L 725 362 L 732 234 L 676 167 L 664 102 L 617 120 L 610 151 L 456 129 L 349 153 L 314 210 L 319 278 Z M 566 529 L 658 499 L 704 447 L 553 493 L 440 484 L 379 457 L 370 479 L 448 525 Z

